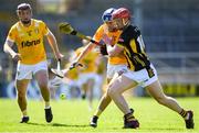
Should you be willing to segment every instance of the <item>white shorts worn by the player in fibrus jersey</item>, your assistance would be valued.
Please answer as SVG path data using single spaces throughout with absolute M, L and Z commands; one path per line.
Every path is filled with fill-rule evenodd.
M 39 70 L 48 70 L 48 62 L 40 62 L 35 65 L 24 65 L 18 63 L 15 79 L 32 79 L 32 76 Z

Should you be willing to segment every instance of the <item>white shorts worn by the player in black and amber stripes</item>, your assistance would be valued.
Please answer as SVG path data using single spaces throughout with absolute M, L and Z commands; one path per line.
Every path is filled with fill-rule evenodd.
M 133 70 L 128 69 L 128 71 L 124 73 L 123 75 L 126 76 L 129 79 L 133 79 L 133 80 L 137 81 L 139 84 L 139 86 L 147 87 L 150 84 L 158 80 L 157 71 L 156 71 L 155 67 L 153 65 L 150 65 L 150 68 L 154 71 L 153 77 L 148 76 L 148 71 L 147 71 L 146 68 L 142 69 L 142 70 L 138 70 L 138 71 L 133 71 Z

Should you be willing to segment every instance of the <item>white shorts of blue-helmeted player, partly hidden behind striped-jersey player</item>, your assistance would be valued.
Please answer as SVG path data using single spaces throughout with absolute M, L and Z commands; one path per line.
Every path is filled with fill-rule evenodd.
M 126 65 L 107 65 L 107 78 L 111 79 L 114 77 L 115 74 L 119 71 L 127 71 L 128 68 Z

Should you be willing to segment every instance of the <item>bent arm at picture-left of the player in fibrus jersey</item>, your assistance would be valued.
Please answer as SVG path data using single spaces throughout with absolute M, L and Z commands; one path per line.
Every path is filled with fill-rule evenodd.
M 11 55 L 11 57 L 14 59 L 14 60 L 20 60 L 21 59 L 21 56 L 19 53 L 15 53 L 13 49 L 12 49 L 12 46 L 13 46 L 13 42 L 10 41 L 9 38 L 6 40 L 4 42 L 4 45 L 3 45 L 3 51 L 4 53 Z

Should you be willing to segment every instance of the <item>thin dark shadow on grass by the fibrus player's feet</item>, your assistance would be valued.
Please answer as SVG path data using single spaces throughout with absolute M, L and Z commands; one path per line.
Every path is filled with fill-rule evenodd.
M 62 123 L 50 123 L 50 124 L 44 124 L 44 123 L 33 123 L 33 122 L 29 122 L 27 124 L 31 124 L 31 125 L 42 125 L 42 126 L 67 126 L 67 128 L 88 128 L 90 125 L 85 124 L 85 125 L 70 125 L 70 124 L 62 124 Z

